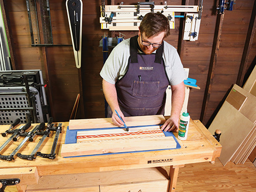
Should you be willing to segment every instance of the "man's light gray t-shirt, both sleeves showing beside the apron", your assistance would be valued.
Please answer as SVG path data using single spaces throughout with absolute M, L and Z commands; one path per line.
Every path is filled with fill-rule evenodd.
M 106 60 L 100 76 L 107 82 L 115 84 L 125 74 L 130 57 L 130 38 L 118 44 Z M 171 86 L 185 79 L 184 69 L 177 50 L 164 41 L 163 60 Z

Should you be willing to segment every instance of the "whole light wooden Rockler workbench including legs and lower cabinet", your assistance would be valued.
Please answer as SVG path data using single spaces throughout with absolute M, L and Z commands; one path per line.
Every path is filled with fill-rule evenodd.
M 62 134 L 54 160 L 37 157 L 33 161 L 15 156 L 15 160 L 0 160 L 0 179 L 20 178 L 17 189 L 21 191 L 169 191 L 174 192 L 179 167 L 188 163 L 211 162 L 220 156 L 221 145 L 199 120 L 190 120 L 186 141 L 179 141 L 178 150 L 99 155 L 62 158 L 61 144 L 65 142 L 69 122 L 62 123 Z M 9 125 L 0 125 L 0 132 Z M 178 133 L 175 133 L 178 137 Z M 10 135 L 8 136 L 10 137 Z M 29 155 L 40 136 L 27 142 L 18 153 Z M 38 151 L 50 153 L 54 135 Z M 0 137 L 0 146 L 7 137 Z M 5 147 L 1 155 L 9 155 L 23 140 Z M 45 144 L 46 143 L 46 144 Z M 168 167 L 169 170 L 163 167 Z

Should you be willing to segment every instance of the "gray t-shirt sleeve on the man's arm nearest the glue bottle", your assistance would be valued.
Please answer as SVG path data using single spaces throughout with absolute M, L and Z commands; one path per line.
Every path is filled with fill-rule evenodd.
M 172 51 L 172 57 L 170 58 L 172 58 L 172 76 L 170 77 L 170 85 L 175 86 L 176 84 L 184 81 L 185 73 L 180 60 L 180 56 L 176 49 Z

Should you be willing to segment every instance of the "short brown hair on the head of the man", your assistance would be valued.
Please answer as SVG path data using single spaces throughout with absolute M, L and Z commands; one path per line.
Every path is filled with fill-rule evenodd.
M 145 32 L 146 37 L 154 37 L 165 32 L 164 37 L 170 34 L 169 20 L 162 13 L 147 13 L 140 23 L 141 33 Z

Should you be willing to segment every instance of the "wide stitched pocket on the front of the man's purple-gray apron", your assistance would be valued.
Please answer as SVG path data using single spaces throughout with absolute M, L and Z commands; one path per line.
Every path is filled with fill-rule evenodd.
M 159 93 L 160 81 L 134 81 L 133 96 L 152 97 Z

